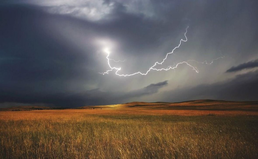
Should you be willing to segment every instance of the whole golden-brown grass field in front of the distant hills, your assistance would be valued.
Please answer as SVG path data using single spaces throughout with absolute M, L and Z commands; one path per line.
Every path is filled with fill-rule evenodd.
M 258 158 L 247 111 L 0 112 L 0 158 Z

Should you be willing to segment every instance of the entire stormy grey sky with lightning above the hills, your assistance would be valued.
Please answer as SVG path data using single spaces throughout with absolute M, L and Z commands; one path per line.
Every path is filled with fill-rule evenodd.
M 257 6 L 256 0 L 1 1 L 0 108 L 257 101 Z

